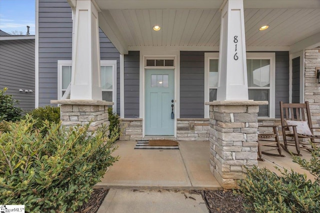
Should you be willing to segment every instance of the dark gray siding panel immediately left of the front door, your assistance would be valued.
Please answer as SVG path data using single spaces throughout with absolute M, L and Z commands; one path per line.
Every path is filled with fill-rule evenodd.
M 139 117 L 139 51 L 124 55 L 124 118 Z

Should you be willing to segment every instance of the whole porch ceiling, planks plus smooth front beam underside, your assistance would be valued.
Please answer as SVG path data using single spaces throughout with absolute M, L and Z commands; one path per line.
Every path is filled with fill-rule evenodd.
M 219 7 L 222 2 L 223 0 L 96 0 L 101 10 L 101 29 L 112 42 L 121 43 L 126 50 L 138 49 L 140 46 L 218 46 L 221 16 Z M 320 33 L 320 1 L 301 2 L 244 0 L 246 45 L 292 46 Z M 283 8 L 285 6 L 287 8 Z M 161 27 L 159 31 L 152 30 L 152 26 L 156 24 Z M 269 28 L 259 31 L 258 28 L 265 24 Z M 320 38 L 317 40 L 316 42 L 320 42 Z

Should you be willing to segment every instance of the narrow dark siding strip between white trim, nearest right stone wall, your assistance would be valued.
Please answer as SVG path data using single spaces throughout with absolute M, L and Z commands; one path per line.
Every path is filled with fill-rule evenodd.
M 300 57 L 292 59 L 292 103 L 300 103 Z

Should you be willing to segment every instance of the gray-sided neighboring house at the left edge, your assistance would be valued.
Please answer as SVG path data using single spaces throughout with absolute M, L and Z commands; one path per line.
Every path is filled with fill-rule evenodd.
M 19 100 L 24 111 L 34 109 L 34 35 L 10 35 L 0 30 L 0 88 Z

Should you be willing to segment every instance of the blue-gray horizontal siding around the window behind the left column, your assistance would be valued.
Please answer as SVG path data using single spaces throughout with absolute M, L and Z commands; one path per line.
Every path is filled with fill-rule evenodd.
M 39 106 L 57 99 L 57 60 L 71 60 L 72 19 L 66 0 L 39 0 Z M 100 59 L 117 61 L 116 111 L 120 112 L 119 52 L 99 29 Z

